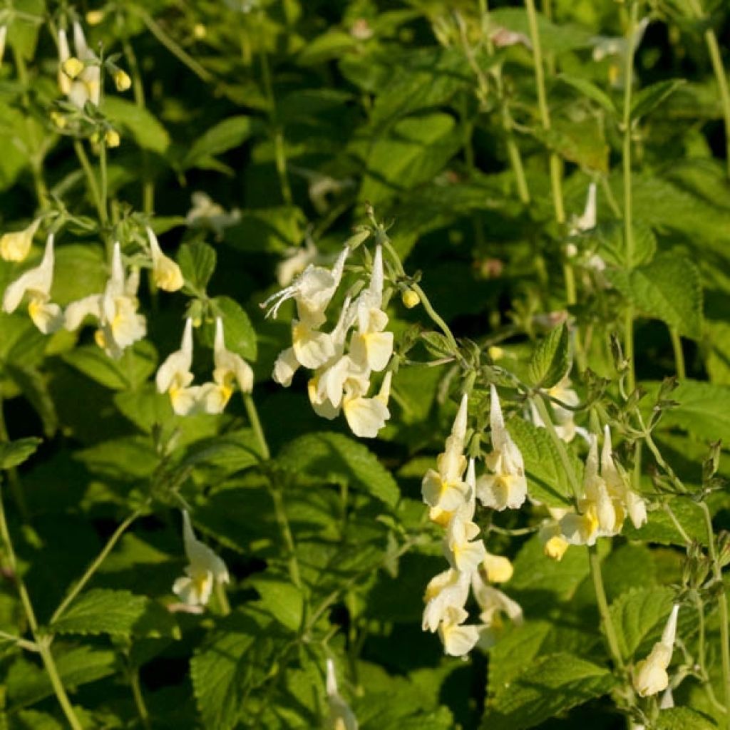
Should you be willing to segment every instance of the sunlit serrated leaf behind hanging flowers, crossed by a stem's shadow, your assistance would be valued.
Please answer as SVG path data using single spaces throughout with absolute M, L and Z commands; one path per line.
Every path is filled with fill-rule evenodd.
M 522 452 L 529 495 L 550 507 L 566 507 L 572 504 L 573 490 L 548 431 L 523 418 L 512 418 L 507 424 L 507 430 Z M 570 449 L 569 455 L 573 468 L 580 477 L 583 466 Z

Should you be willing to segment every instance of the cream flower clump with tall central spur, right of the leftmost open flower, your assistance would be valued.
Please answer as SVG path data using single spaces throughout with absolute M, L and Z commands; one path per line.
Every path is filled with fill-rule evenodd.
M 145 337 L 147 332 L 145 317 L 137 314 L 138 287 L 139 271 L 134 270 L 125 278 L 122 252 L 117 242 L 112 254 L 111 275 L 104 292 L 69 304 L 66 307 L 66 329 L 76 329 L 87 316 L 96 318 L 99 321 L 96 344 L 111 358 L 120 358 L 126 347 Z

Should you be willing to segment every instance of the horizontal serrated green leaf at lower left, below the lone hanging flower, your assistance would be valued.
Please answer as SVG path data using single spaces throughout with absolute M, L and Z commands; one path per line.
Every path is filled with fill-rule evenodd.
M 161 614 L 160 608 L 145 596 L 135 596 L 130 591 L 93 588 L 74 599 L 49 629 L 54 634 L 175 634 L 172 617 L 164 610 Z

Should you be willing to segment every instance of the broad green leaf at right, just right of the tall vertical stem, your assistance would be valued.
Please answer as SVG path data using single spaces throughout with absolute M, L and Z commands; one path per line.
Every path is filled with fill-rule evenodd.
M 702 337 L 702 283 L 692 261 L 667 253 L 631 272 L 608 269 L 606 275 L 640 313 L 662 320 L 685 337 Z

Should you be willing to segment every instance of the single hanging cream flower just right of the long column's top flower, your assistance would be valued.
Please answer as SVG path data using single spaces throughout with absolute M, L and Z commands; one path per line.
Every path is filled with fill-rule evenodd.
M 479 477 L 477 497 L 485 507 L 502 512 L 516 510 L 527 499 L 527 480 L 522 454 L 504 428 L 502 407 L 494 385 L 491 386 L 490 423 L 492 453 L 486 458 L 492 474 Z

